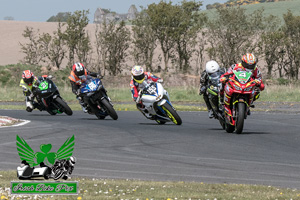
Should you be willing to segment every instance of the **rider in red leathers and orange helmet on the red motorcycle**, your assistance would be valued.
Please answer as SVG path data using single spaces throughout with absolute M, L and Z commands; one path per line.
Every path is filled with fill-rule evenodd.
M 228 81 L 228 77 L 233 75 L 233 70 L 252 72 L 252 78 L 254 78 L 254 80 L 256 82 L 256 86 L 260 89 L 260 91 L 263 91 L 265 89 L 265 85 L 262 81 L 261 73 L 257 67 L 257 58 L 252 53 L 247 53 L 242 56 L 241 63 L 232 65 L 228 69 L 228 71 L 221 76 L 221 78 L 220 78 L 220 82 L 222 83 L 222 89 L 220 90 L 221 103 L 226 103 L 226 104 L 230 103 L 231 96 L 228 96 L 228 94 L 225 94 L 225 98 L 224 98 L 224 86 L 225 86 L 226 82 Z M 253 104 L 253 102 L 255 100 L 257 100 L 259 98 L 260 91 L 255 91 L 255 93 L 252 93 L 252 95 L 250 96 L 251 105 Z M 247 114 L 250 115 L 250 110 Z

